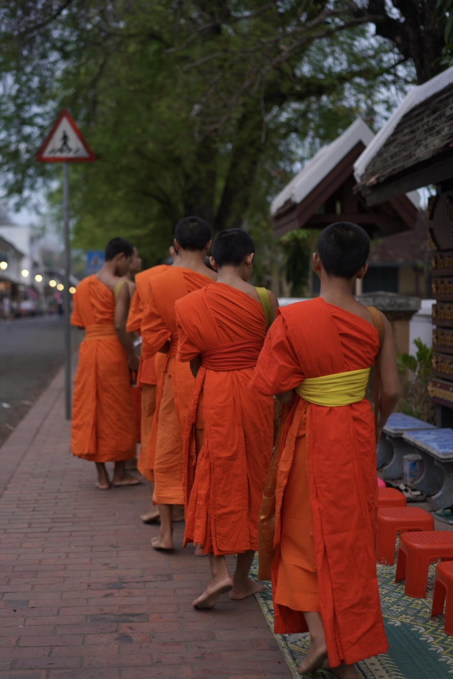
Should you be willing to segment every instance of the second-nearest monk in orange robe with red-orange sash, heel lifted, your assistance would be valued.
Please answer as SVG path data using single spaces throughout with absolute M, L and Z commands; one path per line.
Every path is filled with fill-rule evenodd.
M 196 375 L 185 432 L 184 540 L 209 554 L 212 574 L 195 608 L 213 608 L 222 592 L 238 600 L 265 589 L 249 578 L 274 433 L 274 399 L 247 389 L 268 326 L 257 289 L 247 282 L 254 253 L 249 234 L 221 231 L 211 257 L 217 282 L 176 303 L 177 359 L 190 361 Z M 278 302 L 274 293 L 259 290 L 267 298 L 270 325 Z M 198 452 L 200 422 L 204 441 Z M 225 555 L 236 553 L 232 578 Z

